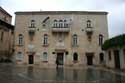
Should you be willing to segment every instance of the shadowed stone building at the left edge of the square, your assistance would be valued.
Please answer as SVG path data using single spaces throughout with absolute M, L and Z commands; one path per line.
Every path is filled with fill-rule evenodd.
M 11 25 L 12 16 L 0 7 L 0 62 L 7 61 L 14 47 L 14 26 Z

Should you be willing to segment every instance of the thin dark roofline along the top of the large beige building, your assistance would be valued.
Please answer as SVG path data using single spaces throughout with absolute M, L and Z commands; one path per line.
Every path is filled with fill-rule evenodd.
M 107 15 L 105 11 L 19 11 L 16 15 L 33 15 L 33 14 L 98 14 Z

